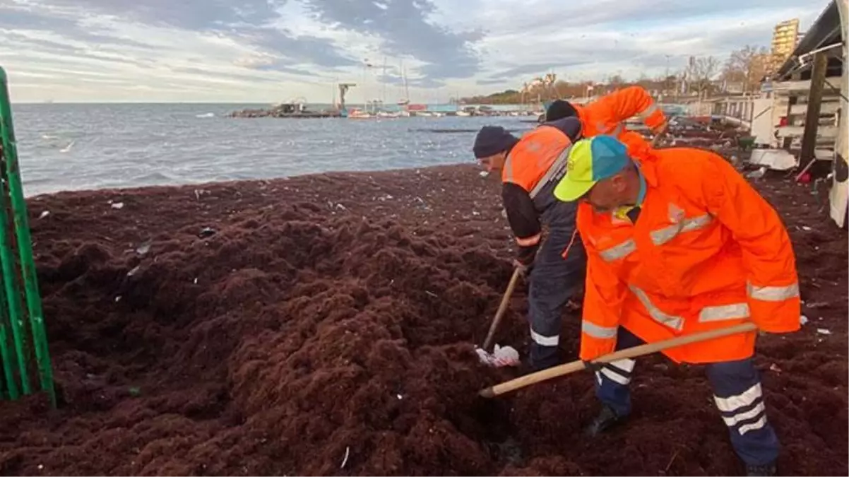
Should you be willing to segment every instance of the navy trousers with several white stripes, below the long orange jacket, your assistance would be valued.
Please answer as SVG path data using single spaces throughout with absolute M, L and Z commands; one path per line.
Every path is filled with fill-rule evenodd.
M 643 341 L 627 329 L 619 328 L 617 351 L 642 344 Z M 634 360 L 627 359 L 606 364 L 596 373 L 596 396 L 619 416 L 631 412 L 628 384 L 633 368 Z M 713 362 L 705 368 L 714 402 L 728 426 L 734 451 L 745 463 L 772 463 L 779 455 L 779 439 L 767 422 L 761 378 L 753 360 Z

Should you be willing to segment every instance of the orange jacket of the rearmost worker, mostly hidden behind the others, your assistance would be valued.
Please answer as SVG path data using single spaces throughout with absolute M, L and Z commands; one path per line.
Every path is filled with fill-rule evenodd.
M 626 131 L 625 121 L 632 116 L 638 116 L 652 130 L 666 122 L 666 115 L 649 92 L 638 86 L 624 87 L 585 106 L 573 106 L 581 119 L 583 137 L 618 137 Z

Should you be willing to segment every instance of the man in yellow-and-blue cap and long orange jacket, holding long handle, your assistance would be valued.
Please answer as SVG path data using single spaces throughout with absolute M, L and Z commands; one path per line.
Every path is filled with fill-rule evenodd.
M 686 165 L 686 167 L 682 167 Z M 588 255 L 581 359 L 596 371 L 596 435 L 631 411 L 634 361 L 599 356 L 751 321 L 767 333 L 800 328 L 799 283 L 778 214 L 721 156 L 701 149 L 576 143 L 554 195 L 578 203 Z M 779 441 L 752 361 L 756 332 L 663 351 L 706 365 L 714 401 L 747 475 L 775 474 Z

